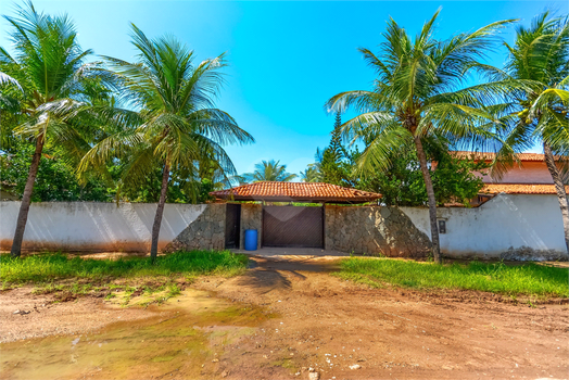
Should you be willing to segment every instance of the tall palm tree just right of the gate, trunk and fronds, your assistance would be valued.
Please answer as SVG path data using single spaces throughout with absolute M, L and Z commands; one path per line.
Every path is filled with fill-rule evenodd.
M 428 194 L 432 251 L 441 263 L 437 201 L 423 143 L 439 136 L 472 145 L 494 141 L 493 124 L 488 123 L 490 115 L 481 110 L 480 101 L 489 94 L 489 86 L 459 88 L 469 69 L 483 67 L 478 61 L 491 47 L 495 31 L 510 21 L 437 40 L 433 33 L 439 12 L 415 40 L 390 18 L 381 55 L 359 49 L 378 73 L 374 90 L 339 93 L 326 107 L 329 112 L 353 107 L 361 113 L 342 125 L 347 138 L 368 143 L 358 162 L 361 170 L 389 169 L 394 152 L 415 145 Z

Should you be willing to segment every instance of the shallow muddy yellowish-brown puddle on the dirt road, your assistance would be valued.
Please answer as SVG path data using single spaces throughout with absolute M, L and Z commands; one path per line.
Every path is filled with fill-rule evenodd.
M 1 344 L 0 379 L 211 379 L 224 345 L 271 317 L 195 290 L 156 311 L 89 334 Z

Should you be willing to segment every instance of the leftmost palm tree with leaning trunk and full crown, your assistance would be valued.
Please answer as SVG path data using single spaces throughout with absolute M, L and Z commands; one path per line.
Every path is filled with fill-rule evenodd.
M 38 13 L 31 2 L 15 12 L 16 16 L 4 16 L 12 27 L 15 55 L 0 48 L 0 107 L 9 114 L 2 116 L 1 129 L 36 143 L 12 242 L 11 254 L 20 256 L 43 147 L 59 145 L 74 159 L 89 148 L 85 125 L 77 128 L 74 117 L 84 105 L 81 91 L 94 77 L 97 64 L 84 64 L 91 51 L 81 50 L 66 15 Z

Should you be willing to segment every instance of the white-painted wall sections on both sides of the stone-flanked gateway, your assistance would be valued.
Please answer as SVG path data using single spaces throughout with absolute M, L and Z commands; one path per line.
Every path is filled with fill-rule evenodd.
M 159 249 L 173 241 L 206 208 L 166 204 Z M 0 202 L 0 249 L 10 250 L 20 202 Z M 429 238 L 429 210 L 401 207 Z M 33 203 L 24 235 L 28 251 L 148 252 L 156 204 L 97 202 Z M 500 194 L 476 208 L 439 208 L 446 221 L 441 249 L 455 257 L 545 259 L 567 257 L 555 195 Z

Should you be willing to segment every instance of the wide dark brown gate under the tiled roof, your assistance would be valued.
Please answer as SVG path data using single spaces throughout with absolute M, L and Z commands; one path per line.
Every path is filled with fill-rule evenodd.
M 324 248 L 324 207 L 264 206 L 263 246 Z

